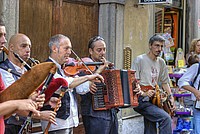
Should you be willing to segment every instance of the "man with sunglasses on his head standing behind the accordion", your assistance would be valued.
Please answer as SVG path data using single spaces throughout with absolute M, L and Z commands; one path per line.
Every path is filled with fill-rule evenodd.
M 103 65 L 96 66 L 96 70 L 93 73 L 101 74 L 105 69 L 114 67 L 113 65 L 110 66 L 111 63 L 105 59 L 106 43 L 101 36 L 95 36 L 90 39 L 88 43 L 88 51 L 89 58 L 91 58 L 92 61 L 104 63 Z M 97 86 L 98 85 L 95 85 L 94 82 L 91 82 L 90 92 L 85 95 L 81 95 L 81 114 L 85 132 L 87 134 L 117 134 L 118 108 L 109 108 L 104 110 L 94 110 L 93 108 L 92 100 L 97 91 Z

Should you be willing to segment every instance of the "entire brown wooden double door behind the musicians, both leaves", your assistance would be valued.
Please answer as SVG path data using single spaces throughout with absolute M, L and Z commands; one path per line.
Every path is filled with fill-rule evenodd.
M 98 0 L 20 0 L 19 9 L 19 32 L 31 39 L 31 56 L 40 61 L 49 55 L 52 35 L 68 36 L 83 57 L 87 42 L 98 34 Z

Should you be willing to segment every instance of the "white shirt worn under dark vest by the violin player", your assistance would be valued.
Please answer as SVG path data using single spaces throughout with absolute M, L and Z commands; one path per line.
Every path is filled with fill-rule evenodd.
M 60 74 L 58 74 L 57 72 L 54 75 L 54 78 L 65 78 L 68 82 L 68 84 L 70 85 L 74 78 L 72 77 L 67 77 L 64 74 L 64 71 L 61 69 L 60 64 L 58 64 L 54 59 L 52 59 L 51 57 L 49 57 L 49 59 L 51 59 L 57 66 L 57 68 L 59 69 L 59 71 L 61 72 L 62 76 Z M 87 93 L 89 92 L 89 82 L 85 82 L 79 86 L 76 87 L 76 91 L 77 93 Z M 78 107 L 77 107 L 77 102 L 74 99 L 74 95 L 72 94 L 73 90 L 69 91 L 69 96 L 70 96 L 70 115 L 66 120 L 60 119 L 60 118 L 56 118 L 56 123 L 58 125 L 53 125 L 51 124 L 51 127 L 49 128 L 49 131 L 52 130 L 59 130 L 59 129 L 66 129 L 66 128 L 72 128 L 72 127 L 77 127 L 79 124 L 79 119 L 78 119 Z M 45 130 L 48 122 L 47 121 L 41 121 L 42 124 L 42 129 Z

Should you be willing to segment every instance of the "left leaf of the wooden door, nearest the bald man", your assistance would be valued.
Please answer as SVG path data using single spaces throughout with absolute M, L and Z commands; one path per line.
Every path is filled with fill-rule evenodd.
M 44 61 L 49 55 L 52 33 L 52 1 L 20 0 L 19 32 L 31 39 L 31 57 Z

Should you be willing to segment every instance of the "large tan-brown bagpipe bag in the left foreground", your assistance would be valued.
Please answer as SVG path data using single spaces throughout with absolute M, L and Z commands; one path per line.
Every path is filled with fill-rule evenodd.
M 8 100 L 27 99 L 44 82 L 52 69 L 56 71 L 56 65 L 53 62 L 35 65 L 0 93 L 0 103 Z

